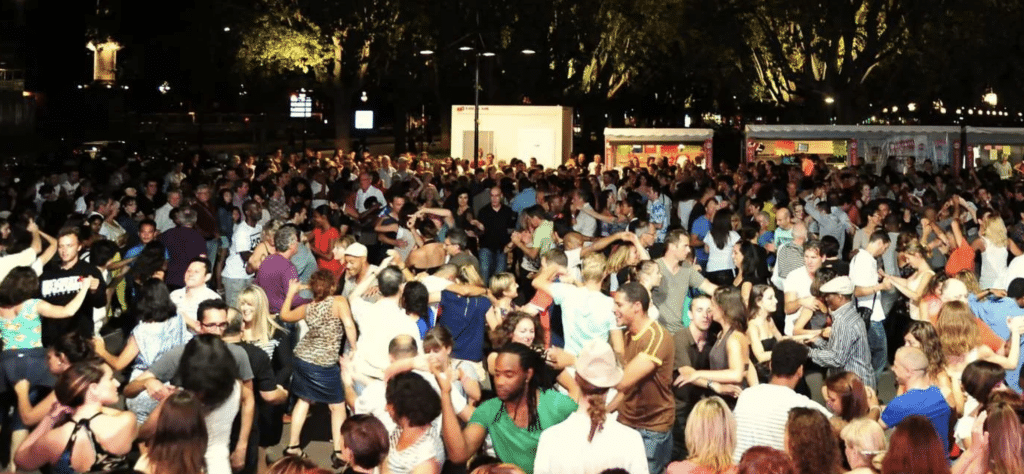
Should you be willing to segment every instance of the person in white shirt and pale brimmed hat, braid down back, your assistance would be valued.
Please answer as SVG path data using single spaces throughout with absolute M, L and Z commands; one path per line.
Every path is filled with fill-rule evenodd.
M 587 343 L 577 357 L 580 410 L 541 434 L 534 474 L 583 474 L 624 468 L 646 474 L 647 456 L 636 430 L 609 418 L 608 390 L 623 380 L 615 352 L 603 340 Z

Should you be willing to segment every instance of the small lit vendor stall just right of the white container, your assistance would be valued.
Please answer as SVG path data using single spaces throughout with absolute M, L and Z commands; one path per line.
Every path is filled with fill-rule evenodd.
M 647 166 L 651 158 L 668 158 L 671 165 L 690 162 L 710 168 L 714 134 L 706 128 L 606 128 L 604 166 L 624 168 L 631 162 Z

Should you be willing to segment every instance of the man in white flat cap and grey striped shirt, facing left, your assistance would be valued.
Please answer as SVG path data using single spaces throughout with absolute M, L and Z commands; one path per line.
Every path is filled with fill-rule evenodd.
M 849 276 L 837 276 L 819 287 L 818 298 L 831 313 L 833 326 L 812 343 L 808 354 L 828 374 L 849 371 L 860 377 L 865 386 L 874 388 L 871 351 L 867 345 L 867 327 L 853 304 L 854 285 Z M 824 338 L 824 339 L 822 339 Z

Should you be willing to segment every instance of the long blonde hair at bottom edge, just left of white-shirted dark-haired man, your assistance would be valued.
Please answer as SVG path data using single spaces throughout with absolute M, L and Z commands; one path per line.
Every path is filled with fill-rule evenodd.
M 691 462 L 716 472 L 732 466 L 736 419 L 722 398 L 713 396 L 698 401 L 686 421 L 685 433 Z

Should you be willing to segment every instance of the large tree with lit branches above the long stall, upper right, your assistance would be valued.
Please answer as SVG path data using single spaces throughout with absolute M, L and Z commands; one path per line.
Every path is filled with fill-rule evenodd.
M 919 37 L 923 0 L 736 0 L 753 95 L 778 104 L 836 100 L 840 121 L 867 107 L 865 84 Z

